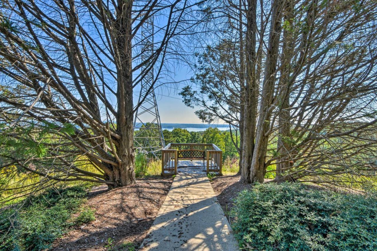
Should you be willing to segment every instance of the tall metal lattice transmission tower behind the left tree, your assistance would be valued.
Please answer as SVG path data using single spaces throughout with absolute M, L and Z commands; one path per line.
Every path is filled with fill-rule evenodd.
M 153 55 L 153 35 L 154 29 L 152 16 L 149 17 L 141 27 L 142 62 L 146 62 L 148 58 Z M 142 72 L 145 71 L 148 67 L 150 67 L 148 63 L 144 64 L 141 69 Z M 135 120 L 133 122 L 133 130 L 135 132 L 135 147 L 152 153 L 154 156 L 156 156 L 156 152 L 165 147 L 165 140 L 164 135 L 162 134 L 160 115 L 158 113 L 154 88 L 152 88 L 152 90 L 150 90 L 150 92 L 147 94 L 150 87 L 152 86 L 153 79 L 154 72 L 152 67 L 152 69 L 149 69 L 148 73 L 141 80 L 141 90 L 138 104 L 143 101 L 144 96 L 146 96 L 146 98 L 136 111 Z

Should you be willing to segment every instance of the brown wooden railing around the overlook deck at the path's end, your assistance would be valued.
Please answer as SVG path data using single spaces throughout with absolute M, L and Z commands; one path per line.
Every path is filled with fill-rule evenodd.
M 162 148 L 162 175 L 177 174 L 178 150 L 205 151 L 207 173 L 218 172 L 222 174 L 222 151 L 215 144 L 170 143 Z

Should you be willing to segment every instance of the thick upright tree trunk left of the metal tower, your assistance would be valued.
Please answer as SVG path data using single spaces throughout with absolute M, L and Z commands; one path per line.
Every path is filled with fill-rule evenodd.
M 117 141 L 118 167 L 113 167 L 112 178 L 117 186 L 134 184 L 135 152 L 133 148 L 133 89 L 132 89 L 132 1 L 118 2 L 113 41 L 118 72 L 118 113 L 116 131 L 121 136 Z M 120 162 L 120 163 L 119 163 Z

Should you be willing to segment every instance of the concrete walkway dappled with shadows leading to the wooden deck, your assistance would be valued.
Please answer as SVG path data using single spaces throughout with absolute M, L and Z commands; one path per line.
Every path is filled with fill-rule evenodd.
M 179 172 L 139 250 L 239 250 L 204 173 Z

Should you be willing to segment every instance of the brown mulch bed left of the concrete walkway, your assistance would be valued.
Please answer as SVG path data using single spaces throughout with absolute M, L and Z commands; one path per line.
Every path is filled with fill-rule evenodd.
M 106 250 L 112 245 L 143 242 L 172 184 L 172 178 L 147 178 L 127 187 L 107 190 L 100 186 L 89 193 L 87 206 L 96 220 L 70 230 L 56 240 L 53 250 Z

